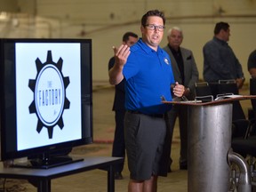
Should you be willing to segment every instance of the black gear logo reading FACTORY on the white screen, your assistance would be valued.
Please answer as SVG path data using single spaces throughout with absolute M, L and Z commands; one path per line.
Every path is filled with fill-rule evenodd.
M 29 79 L 28 86 L 34 92 L 34 100 L 29 106 L 29 113 L 36 113 L 38 118 L 36 131 L 40 133 L 43 128 L 48 130 L 49 139 L 52 139 L 53 127 L 64 127 L 62 114 L 69 108 L 70 102 L 66 98 L 66 88 L 69 77 L 61 72 L 63 60 L 57 63 L 52 61 L 52 51 L 47 52 L 44 63 L 36 59 L 36 79 Z

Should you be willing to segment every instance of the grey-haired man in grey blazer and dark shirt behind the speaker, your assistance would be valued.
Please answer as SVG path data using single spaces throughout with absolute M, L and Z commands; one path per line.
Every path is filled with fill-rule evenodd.
M 188 49 L 180 47 L 183 40 L 183 33 L 180 28 L 173 27 L 169 29 L 167 40 L 168 44 L 164 47 L 164 51 L 170 55 L 174 79 L 179 82 L 179 84 L 185 86 L 184 95 L 188 100 L 194 100 L 195 84 L 198 80 L 198 70 L 193 53 Z M 178 116 L 180 123 L 180 169 L 186 170 L 188 169 L 188 107 L 175 105 L 168 113 L 167 124 L 170 127 L 171 144 L 173 128 Z M 172 158 L 170 162 L 170 172 L 171 164 Z

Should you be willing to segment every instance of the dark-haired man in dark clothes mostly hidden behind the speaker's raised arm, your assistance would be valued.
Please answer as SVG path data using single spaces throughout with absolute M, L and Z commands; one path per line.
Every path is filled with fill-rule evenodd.
M 127 44 L 128 46 L 132 46 L 138 41 L 138 35 L 127 32 L 123 36 L 123 44 Z M 115 64 L 115 58 L 112 57 L 108 62 L 108 70 L 113 68 Z M 115 111 L 115 120 L 116 120 L 116 130 L 114 136 L 114 143 L 112 149 L 112 156 L 124 157 L 125 156 L 125 145 L 124 145 L 124 84 L 125 79 L 115 86 L 115 99 L 112 110 Z M 122 171 L 124 169 L 124 162 L 122 164 L 118 164 L 115 167 L 115 179 L 122 180 L 123 175 Z

